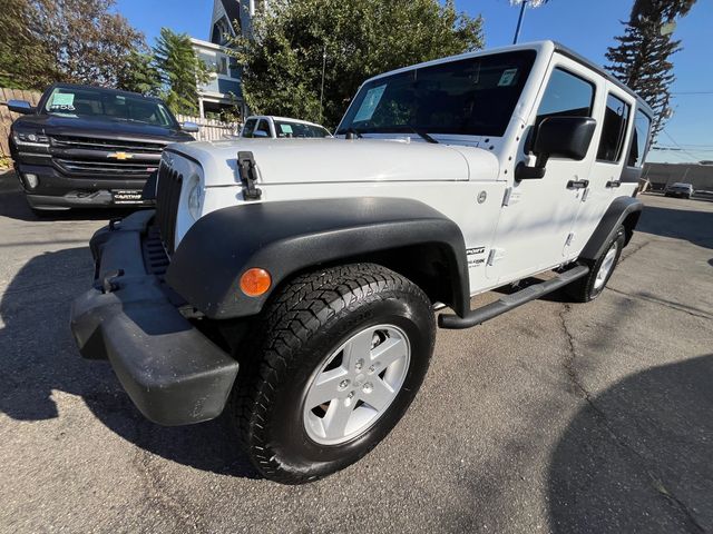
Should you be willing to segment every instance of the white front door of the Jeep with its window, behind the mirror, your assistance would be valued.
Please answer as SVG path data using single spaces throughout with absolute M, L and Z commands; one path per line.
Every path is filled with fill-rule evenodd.
M 548 82 L 529 121 L 533 131 L 547 117 L 593 116 L 596 86 L 586 73 L 586 68 L 568 58 L 553 59 Z M 488 278 L 506 284 L 564 261 L 586 195 L 593 146 L 582 161 L 550 158 L 543 179 L 511 179 L 488 257 Z

